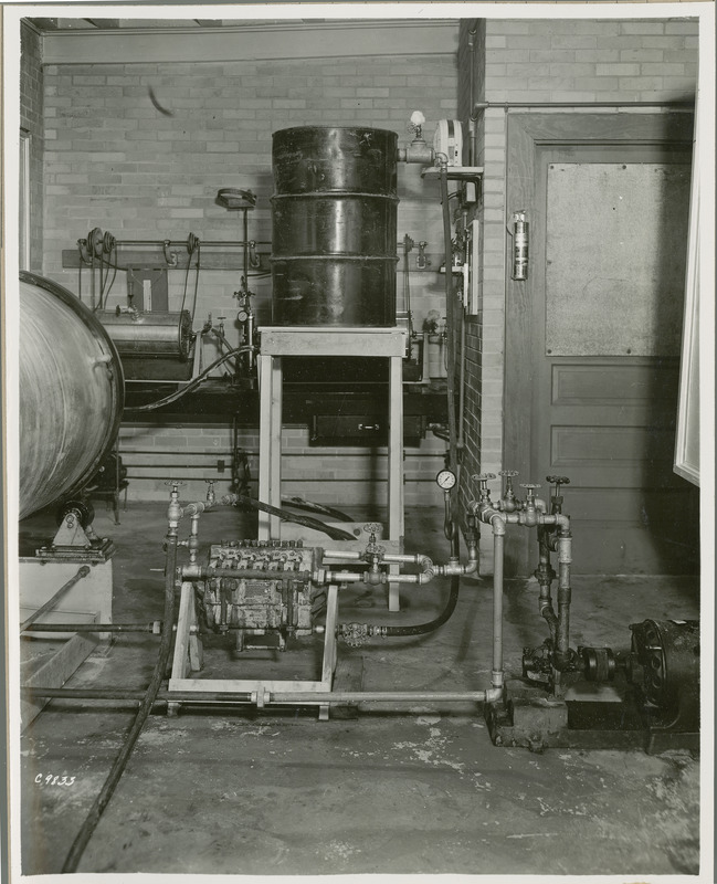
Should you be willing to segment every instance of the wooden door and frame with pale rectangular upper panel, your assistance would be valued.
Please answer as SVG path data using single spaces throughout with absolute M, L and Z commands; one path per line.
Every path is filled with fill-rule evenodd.
M 673 471 L 692 117 L 516 115 L 508 214 L 530 222 L 508 284 L 504 463 L 566 475 L 580 573 L 697 568 L 697 494 Z M 508 545 L 535 568 L 528 532 Z

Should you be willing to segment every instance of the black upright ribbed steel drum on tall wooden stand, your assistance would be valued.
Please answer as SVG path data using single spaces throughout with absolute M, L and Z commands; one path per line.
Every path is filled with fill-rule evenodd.
M 274 133 L 274 325 L 396 325 L 397 150 L 384 129 Z

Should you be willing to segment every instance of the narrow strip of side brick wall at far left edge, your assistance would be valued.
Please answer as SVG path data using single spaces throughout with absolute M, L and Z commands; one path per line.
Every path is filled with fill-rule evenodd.
M 42 156 L 43 131 L 43 73 L 40 34 L 27 24 L 21 25 L 20 61 L 20 126 L 30 144 L 30 266 L 42 272 Z

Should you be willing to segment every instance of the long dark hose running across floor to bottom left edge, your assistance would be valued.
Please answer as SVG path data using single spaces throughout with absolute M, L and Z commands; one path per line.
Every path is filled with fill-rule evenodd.
M 167 538 L 167 575 L 165 578 L 165 614 L 164 614 L 164 622 L 165 623 L 173 623 L 175 622 L 175 577 L 177 570 L 177 536 L 169 536 Z M 129 733 L 125 737 L 125 741 L 123 744 L 122 749 L 119 750 L 119 755 L 115 759 L 114 765 L 109 774 L 107 775 L 107 779 L 99 791 L 99 794 L 95 799 L 92 808 L 89 809 L 89 813 L 87 814 L 82 829 L 77 833 L 72 848 L 70 848 L 70 853 L 67 854 L 67 859 L 62 866 L 63 874 L 65 872 L 76 872 L 77 865 L 80 864 L 80 860 L 82 859 L 82 854 L 89 842 L 89 839 L 93 835 L 93 832 L 97 828 L 97 823 L 99 822 L 102 814 L 104 813 L 105 808 L 109 803 L 109 799 L 114 794 L 115 789 L 117 788 L 117 783 L 119 782 L 122 775 L 127 767 L 127 761 L 129 761 L 129 756 L 135 748 L 135 744 L 137 743 L 137 738 L 139 737 L 145 723 L 151 712 L 152 706 L 157 699 L 157 694 L 159 693 L 159 688 L 161 687 L 162 678 L 165 676 L 165 671 L 167 669 L 167 663 L 169 662 L 169 653 L 171 651 L 172 645 L 172 630 L 166 629 L 162 631 L 161 640 L 159 643 L 159 653 L 157 655 L 157 662 L 155 664 L 155 671 L 152 672 L 151 680 L 149 682 L 149 687 L 147 688 L 147 693 L 137 711 L 137 715 L 135 716 L 135 720 L 133 726 L 129 729 Z

